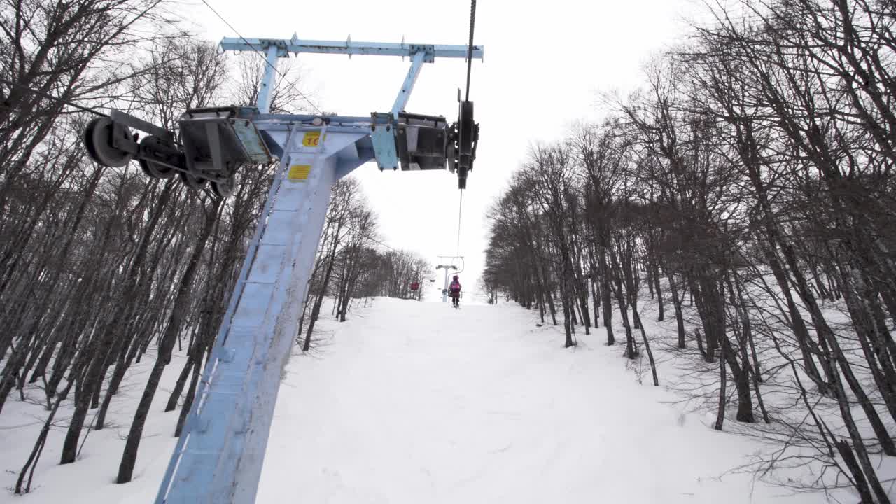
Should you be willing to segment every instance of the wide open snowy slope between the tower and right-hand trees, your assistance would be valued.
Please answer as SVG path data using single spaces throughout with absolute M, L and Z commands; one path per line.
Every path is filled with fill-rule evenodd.
M 521 308 L 376 300 L 289 363 L 257 501 L 819 501 L 719 480 L 758 445 L 662 404 L 604 337 L 564 350 Z

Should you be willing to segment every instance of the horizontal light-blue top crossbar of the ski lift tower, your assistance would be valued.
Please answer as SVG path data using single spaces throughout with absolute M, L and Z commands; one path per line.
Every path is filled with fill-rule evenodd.
M 259 51 L 277 46 L 283 53 L 344 54 L 375 56 L 413 56 L 421 48 L 426 51 L 424 61 L 432 63 L 436 57 L 467 57 L 468 47 L 464 45 L 439 44 L 390 44 L 383 42 L 356 42 L 351 40 L 299 40 L 299 39 L 239 39 L 225 38 L 220 42 L 225 51 Z M 485 49 L 473 46 L 473 59 L 482 59 Z

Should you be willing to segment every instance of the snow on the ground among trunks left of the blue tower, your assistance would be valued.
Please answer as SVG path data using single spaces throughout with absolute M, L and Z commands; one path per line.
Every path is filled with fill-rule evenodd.
M 172 357 L 165 370 L 159 390 L 152 402 L 151 413 L 143 430 L 140 454 L 134 470 L 134 481 L 115 484 L 118 464 L 125 449 L 127 431 L 134 420 L 134 410 L 140 401 L 146 375 L 155 361 L 155 348 L 151 347 L 142 362 L 129 371 L 125 383 L 119 389 L 109 407 L 108 425 L 104 430 L 93 430 L 86 442 L 82 433 L 82 450 L 73 464 L 59 465 L 62 443 L 72 416 L 71 401 L 67 401 L 56 413 L 56 427 L 50 430 L 46 448 L 34 474 L 31 492 L 24 496 L 13 495 L 16 479 L 22 465 L 28 459 L 47 412 L 38 402 L 44 394 L 37 387 L 29 387 L 29 401 L 19 401 L 18 391 L 4 405 L 0 414 L 0 503 L 17 504 L 147 504 L 155 498 L 168 459 L 177 439 L 173 437 L 177 424 L 177 412 L 162 413 L 168 395 L 184 367 L 185 355 Z M 105 394 L 105 391 L 104 391 Z M 96 410 L 87 416 L 93 422 Z M 86 430 L 85 430 L 86 432 Z

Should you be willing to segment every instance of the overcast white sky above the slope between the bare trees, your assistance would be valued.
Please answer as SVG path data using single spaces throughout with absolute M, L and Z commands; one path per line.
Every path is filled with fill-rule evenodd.
M 330 0 L 251 4 L 208 0 L 246 38 L 466 44 L 470 2 Z M 203 4 L 186 7 L 202 36 L 236 36 Z M 599 117 L 601 91 L 631 91 L 642 65 L 682 39 L 694 0 L 481 0 L 470 99 L 480 125 L 477 161 L 464 191 L 461 282 L 470 290 L 484 267 L 485 214 L 532 143 L 561 138 L 577 120 Z M 321 109 L 340 115 L 386 112 L 401 88 L 409 60 L 394 56 L 300 55 L 305 86 Z M 409 112 L 456 120 L 462 59 L 424 65 Z M 457 178 L 447 171 L 380 172 L 374 163 L 355 171 L 379 214 L 383 241 L 426 256 L 455 253 Z M 435 271 L 433 272 L 435 274 Z M 439 275 L 438 283 L 441 283 Z

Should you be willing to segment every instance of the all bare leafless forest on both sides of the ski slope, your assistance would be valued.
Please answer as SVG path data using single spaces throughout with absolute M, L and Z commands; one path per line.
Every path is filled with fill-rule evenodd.
M 654 385 L 666 379 L 655 364 L 674 359 L 686 379 L 672 387 L 717 413 L 716 429 L 768 442 L 749 466 L 762 477 L 889 503 L 896 4 L 711 10 L 648 65 L 641 91 L 604 97 L 605 121 L 531 149 L 488 215 L 482 286 L 564 326 L 568 347 L 600 328 L 649 362 Z M 188 359 L 165 409 L 183 421 L 261 212 L 273 166 L 244 170 L 222 200 L 84 152 L 83 126 L 109 107 L 170 128 L 185 109 L 254 104 L 263 61 L 183 26 L 161 0 L 0 4 L 0 414 L 14 401 L 46 409 L 17 493 L 50 429 L 66 431 L 59 462 L 77 463 L 142 359 L 153 363 L 116 481 L 134 476 L 176 349 Z M 297 69 L 281 71 L 272 111 L 311 106 Z M 409 297 L 429 269 L 383 245 L 358 183 L 340 182 L 297 346 L 313 349 L 319 317 Z M 647 317 L 674 318 L 674 336 Z M 820 470 L 775 476 L 806 466 Z

